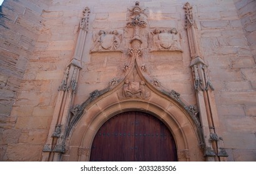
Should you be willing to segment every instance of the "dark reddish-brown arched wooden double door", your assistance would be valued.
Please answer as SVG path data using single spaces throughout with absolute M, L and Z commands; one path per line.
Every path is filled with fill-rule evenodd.
M 107 122 L 92 142 L 91 161 L 177 161 L 165 124 L 145 112 L 123 112 Z

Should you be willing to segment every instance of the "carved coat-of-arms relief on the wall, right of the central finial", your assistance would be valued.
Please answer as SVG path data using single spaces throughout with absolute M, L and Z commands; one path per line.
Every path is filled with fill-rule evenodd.
M 150 52 L 154 51 L 179 51 L 183 52 L 180 45 L 180 34 L 177 29 L 155 29 L 149 33 Z

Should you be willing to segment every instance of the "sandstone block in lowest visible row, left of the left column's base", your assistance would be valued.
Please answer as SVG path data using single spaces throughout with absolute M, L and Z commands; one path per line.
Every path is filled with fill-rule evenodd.
M 5 161 L 37 162 L 40 160 L 43 145 L 13 144 L 8 145 Z M 28 150 L 29 149 L 29 150 Z

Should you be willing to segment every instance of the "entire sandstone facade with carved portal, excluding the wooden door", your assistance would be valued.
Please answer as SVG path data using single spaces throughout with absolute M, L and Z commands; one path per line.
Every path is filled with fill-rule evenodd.
M 180 137 L 180 161 L 255 161 L 256 2 L 186 2 L 5 0 L 0 160 L 88 160 L 100 125 L 137 107 Z

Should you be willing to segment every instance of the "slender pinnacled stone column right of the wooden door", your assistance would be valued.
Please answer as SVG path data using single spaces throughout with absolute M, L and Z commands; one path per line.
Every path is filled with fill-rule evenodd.
M 200 121 L 204 134 L 204 155 L 207 161 L 222 161 L 227 157 L 227 153 L 223 149 L 222 138 L 218 137 L 221 133 L 219 132 L 219 117 L 215 105 L 214 88 L 210 83 L 207 65 L 200 52 L 197 27 L 194 22 L 192 6 L 190 6 L 189 2 L 184 5 L 184 9 L 185 28 L 187 29 L 192 58 L 190 67 L 192 68 Z

